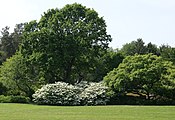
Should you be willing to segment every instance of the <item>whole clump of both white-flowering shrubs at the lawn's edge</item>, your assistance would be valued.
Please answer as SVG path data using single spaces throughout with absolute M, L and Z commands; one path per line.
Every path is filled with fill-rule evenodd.
M 57 82 L 38 89 L 33 94 L 33 101 L 48 105 L 102 105 L 108 100 L 106 90 L 102 83 L 81 82 L 73 86 Z

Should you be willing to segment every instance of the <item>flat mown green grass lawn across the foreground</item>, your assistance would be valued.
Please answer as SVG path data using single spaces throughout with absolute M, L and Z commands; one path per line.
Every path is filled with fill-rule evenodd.
M 0 104 L 0 120 L 174 120 L 175 106 Z

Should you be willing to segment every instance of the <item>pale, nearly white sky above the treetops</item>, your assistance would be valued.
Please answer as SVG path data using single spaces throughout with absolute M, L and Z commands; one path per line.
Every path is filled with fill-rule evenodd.
M 48 9 L 75 2 L 104 18 L 114 49 L 138 38 L 175 47 L 175 0 L 0 0 L 0 29 L 39 20 Z

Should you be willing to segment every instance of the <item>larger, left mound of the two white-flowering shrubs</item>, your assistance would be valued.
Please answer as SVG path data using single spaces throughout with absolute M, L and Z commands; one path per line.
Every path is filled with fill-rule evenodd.
M 56 82 L 44 85 L 33 94 L 37 104 L 80 105 L 79 88 L 68 83 Z

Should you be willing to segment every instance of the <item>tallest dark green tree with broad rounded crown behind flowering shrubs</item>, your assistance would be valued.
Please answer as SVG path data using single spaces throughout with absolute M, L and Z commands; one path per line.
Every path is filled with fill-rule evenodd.
M 74 83 L 88 79 L 84 75 L 94 72 L 95 61 L 105 53 L 110 41 L 103 17 L 75 3 L 50 9 L 39 22 L 29 22 L 20 52 L 38 65 L 48 83 Z M 35 59 L 35 54 L 40 57 Z

